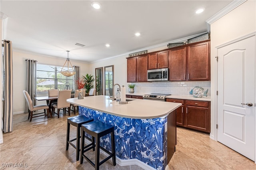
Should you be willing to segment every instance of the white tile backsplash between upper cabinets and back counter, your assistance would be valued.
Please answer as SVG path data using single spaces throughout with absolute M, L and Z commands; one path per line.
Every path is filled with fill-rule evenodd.
M 130 83 L 127 83 L 130 84 Z M 179 81 L 179 82 L 145 82 L 135 83 L 134 93 L 160 93 L 171 95 L 189 95 L 191 89 L 195 86 L 208 89 L 208 96 L 211 96 L 210 81 Z M 127 87 L 127 86 L 126 86 Z

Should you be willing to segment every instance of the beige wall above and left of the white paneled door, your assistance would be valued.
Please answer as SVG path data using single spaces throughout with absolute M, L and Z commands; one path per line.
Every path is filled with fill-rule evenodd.
M 256 1 L 248 0 L 211 24 L 211 138 L 216 140 L 216 46 L 256 31 Z

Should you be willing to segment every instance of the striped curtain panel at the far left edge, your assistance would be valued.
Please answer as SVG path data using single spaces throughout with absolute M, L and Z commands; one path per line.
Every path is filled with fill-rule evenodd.
M 3 132 L 12 132 L 12 103 L 13 103 L 13 84 L 12 84 L 12 42 L 4 40 L 4 50 L 2 58 L 2 125 Z

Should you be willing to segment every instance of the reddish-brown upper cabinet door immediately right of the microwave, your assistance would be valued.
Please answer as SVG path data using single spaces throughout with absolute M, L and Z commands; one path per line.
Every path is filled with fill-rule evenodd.
M 170 50 L 169 54 L 169 80 L 186 80 L 186 47 Z

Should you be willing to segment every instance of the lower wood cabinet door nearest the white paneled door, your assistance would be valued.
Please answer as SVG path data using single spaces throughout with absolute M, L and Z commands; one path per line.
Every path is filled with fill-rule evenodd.
M 186 127 L 210 132 L 208 108 L 186 106 Z

